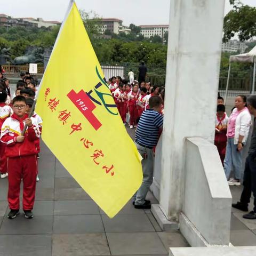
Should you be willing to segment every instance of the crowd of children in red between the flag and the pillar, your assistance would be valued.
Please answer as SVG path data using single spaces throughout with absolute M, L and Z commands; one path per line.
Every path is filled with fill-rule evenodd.
M 115 100 L 119 114 L 124 124 L 129 124 L 130 129 L 137 126 L 142 112 L 149 108 L 149 99 L 159 96 L 164 102 L 164 88 L 151 83 L 123 80 L 120 76 L 113 76 L 108 80 L 109 89 Z M 164 107 L 162 109 L 162 113 Z

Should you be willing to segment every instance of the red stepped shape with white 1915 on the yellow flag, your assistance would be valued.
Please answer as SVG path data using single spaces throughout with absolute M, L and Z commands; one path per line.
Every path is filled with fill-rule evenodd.
M 78 93 L 76 93 L 74 90 L 71 90 L 67 96 L 97 131 L 102 124 L 92 113 L 96 106 L 89 98 L 89 96 L 83 90 Z

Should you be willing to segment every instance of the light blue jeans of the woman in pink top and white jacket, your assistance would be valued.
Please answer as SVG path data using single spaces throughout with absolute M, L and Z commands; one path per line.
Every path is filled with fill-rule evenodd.
M 242 151 L 237 151 L 237 145 L 234 145 L 234 138 L 228 138 L 226 156 L 224 160 L 224 171 L 227 180 L 229 179 L 231 173 L 231 167 L 233 166 L 233 171 L 236 180 L 241 179 L 242 171 Z

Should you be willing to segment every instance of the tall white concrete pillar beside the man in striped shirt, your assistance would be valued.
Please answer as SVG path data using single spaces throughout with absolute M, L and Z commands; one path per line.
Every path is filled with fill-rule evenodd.
M 224 8 L 171 0 L 159 202 L 169 220 L 182 209 L 185 138 L 214 139 Z

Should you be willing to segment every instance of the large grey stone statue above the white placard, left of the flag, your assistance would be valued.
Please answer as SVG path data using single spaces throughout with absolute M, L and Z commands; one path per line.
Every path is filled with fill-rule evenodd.
M 13 60 L 14 65 L 24 65 L 27 63 L 44 62 L 44 49 L 43 47 L 30 46 L 28 47 L 25 55 L 16 57 Z

